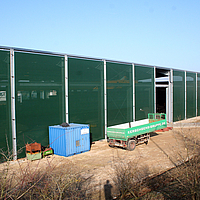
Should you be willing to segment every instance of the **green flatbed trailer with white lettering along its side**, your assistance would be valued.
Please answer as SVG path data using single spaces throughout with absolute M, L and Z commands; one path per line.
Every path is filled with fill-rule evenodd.
M 132 151 L 135 149 L 136 144 L 147 144 L 151 132 L 166 127 L 166 114 L 149 113 L 148 119 L 108 127 L 107 141 L 110 147 L 121 146 Z

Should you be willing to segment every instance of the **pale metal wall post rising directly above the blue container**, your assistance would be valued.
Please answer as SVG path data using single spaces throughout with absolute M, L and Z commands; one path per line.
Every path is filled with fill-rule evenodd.
M 65 117 L 67 123 L 69 123 L 68 101 L 68 57 L 65 55 Z

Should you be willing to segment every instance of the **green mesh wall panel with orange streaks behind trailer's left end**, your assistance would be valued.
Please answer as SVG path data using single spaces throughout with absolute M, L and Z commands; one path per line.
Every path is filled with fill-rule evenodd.
M 108 126 L 133 121 L 132 65 L 106 63 Z

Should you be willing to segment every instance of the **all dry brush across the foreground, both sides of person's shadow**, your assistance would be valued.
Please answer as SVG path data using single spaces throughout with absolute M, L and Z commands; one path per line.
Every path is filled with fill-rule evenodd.
M 111 190 L 116 194 L 115 199 L 121 200 L 200 199 L 198 131 L 184 128 L 174 131 L 177 145 L 173 153 L 167 155 L 174 168 L 164 173 L 152 175 L 151 171 L 150 174 L 140 157 L 134 161 L 115 160 L 111 184 L 107 181 L 104 188 L 99 187 L 102 195 L 94 189 L 99 183 L 94 183 L 93 177 L 86 178 L 88 175 L 83 169 L 69 160 L 49 161 L 45 168 L 40 167 L 40 161 L 33 161 L 34 167 L 30 162 L 18 162 L 16 171 L 8 157 L 0 171 L 0 199 L 95 199 L 95 195 L 98 199 L 112 199 Z

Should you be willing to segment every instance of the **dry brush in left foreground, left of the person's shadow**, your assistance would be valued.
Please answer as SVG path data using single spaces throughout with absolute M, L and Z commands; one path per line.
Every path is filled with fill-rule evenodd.
M 18 172 L 10 171 L 7 162 L 0 172 L 0 199 L 89 199 L 90 179 L 81 173 L 70 162 L 61 166 L 49 163 L 45 170 L 27 164 Z

